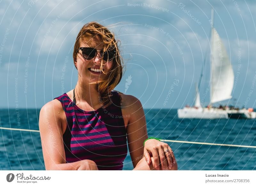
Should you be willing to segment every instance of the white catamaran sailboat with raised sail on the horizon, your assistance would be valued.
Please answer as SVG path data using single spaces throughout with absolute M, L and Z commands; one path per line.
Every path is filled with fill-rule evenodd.
M 229 60 L 226 48 L 213 25 L 214 11 L 211 19 L 211 79 L 210 79 L 210 104 L 202 107 L 198 86 L 196 85 L 196 97 L 194 107 L 185 106 L 178 109 L 179 118 L 197 119 L 255 119 L 256 112 L 253 108 L 234 109 L 221 105 L 214 108 L 212 104 L 220 104 L 223 100 L 231 99 L 234 86 L 234 71 Z M 200 87 L 199 87 L 200 88 Z

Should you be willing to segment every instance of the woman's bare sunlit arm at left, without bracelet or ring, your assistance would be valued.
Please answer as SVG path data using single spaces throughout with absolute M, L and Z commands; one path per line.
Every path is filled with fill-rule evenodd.
M 58 100 L 45 104 L 39 115 L 39 129 L 42 142 L 44 164 L 46 170 L 98 170 L 95 162 L 81 160 L 66 163 L 62 123 L 65 115 L 62 105 Z M 66 117 L 65 117 L 66 118 Z

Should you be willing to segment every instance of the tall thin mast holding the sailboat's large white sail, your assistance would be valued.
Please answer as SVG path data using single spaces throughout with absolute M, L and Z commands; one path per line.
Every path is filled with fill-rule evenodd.
M 210 76 L 210 104 L 209 105 L 211 105 L 212 104 L 212 74 L 213 74 L 213 68 L 212 68 L 212 66 L 213 66 L 213 55 L 212 55 L 212 51 L 213 51 L 213 29 L 214 29 L 214 10 L 213 10 L 213 8 L 212 8 L 212 17 L 211 17 L 211 20 L 212 20 L 212 22 L 211 22 L 211 76 Z

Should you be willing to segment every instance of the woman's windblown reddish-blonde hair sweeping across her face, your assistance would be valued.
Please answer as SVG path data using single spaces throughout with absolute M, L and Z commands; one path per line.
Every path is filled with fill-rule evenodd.
M 104 74 L 107 74 L 107 78 L 105 80 L 96 82 L 97 89 L 100 94 L 100 103 L 104 107 L 107 107 L 108 105 L 111 104 L 110 97 L 112 96 L 112 94 L 110 93 L 110 91 L 113 90 L 118 85 L 118 83 L 121 81 L 123 76 L 124 64 L 118 49 L 119 41 L 116 41 L 114 34 L 111 33 L 107 27 L 104 27 L 97 22 L 89 22 L 81 28 L 81 30 L 79 31 L 76 37 L 76 43 L 73 51 L 74 63 L 76 62 L 77 53 L 79 51 L 81 41 L 88 40 L 88 36 L 89 37 L 100 36 L 100 38 L 102 39 L 103 47 L 104 47 L 103 52 L 107 50 L 116 49 L 116 55 L 115 55 L 115 58 L 113 59 L 113 66 L 108 73 L 105 73 L 103 71 L 104 61 L 101 60 L 100 70 L 102 70 Z

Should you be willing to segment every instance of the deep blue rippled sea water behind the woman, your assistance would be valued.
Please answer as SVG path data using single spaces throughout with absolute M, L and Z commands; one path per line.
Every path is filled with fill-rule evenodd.
M 38 130 L 39 109 L 0 109 L 0 127 Z M 162 139 L 256 146 L 255 120 L 179 119 L 177 110 L 145 109 L 148 136 Z M 208 124 L 208 125 L 207 125 Z M 179 170 L 255 170 L 256 149 L 168 143 Z M 124 170 L 132 170 L 129 156 Z M 0 170 L 44 170 L 40 133 L 0 129 Z

